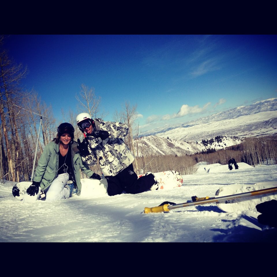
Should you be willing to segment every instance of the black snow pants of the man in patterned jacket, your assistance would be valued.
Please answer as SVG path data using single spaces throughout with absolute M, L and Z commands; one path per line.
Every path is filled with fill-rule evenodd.
M 144 192 L 155 184 L 152 174 L 138 179 L 133 164 L 120 171 L 116 176 L 106 176 L 105 178 L 108 181 L 107 191 L 109 196 L 121 194 L 123 191 L 132 194 Z

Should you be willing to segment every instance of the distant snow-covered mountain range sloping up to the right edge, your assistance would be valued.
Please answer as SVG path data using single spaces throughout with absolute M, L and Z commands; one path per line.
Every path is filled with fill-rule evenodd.
M 218 135 L 261 136 L 277 133 L 277 98 L 241 106 L 186 123 L 167 124 L 142 132 L 142 136 L 201 141 Z

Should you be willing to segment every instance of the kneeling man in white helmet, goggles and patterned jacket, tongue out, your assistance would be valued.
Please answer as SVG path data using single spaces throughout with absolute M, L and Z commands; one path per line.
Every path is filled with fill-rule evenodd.
M 123 141 L 129 130 L 126 124 L 92 119 L 88 113 L 80 113 L 76 122 L 79 129 L 86 132 L 82 143 L 78 139 L 82 160 L 88 165 L 94 165 L 99 158 L 102 173 L 108 182 L 109 196 L 123 191 L 136 194 L 158 189 L 153 173 L 148 172 L 138 179 L 134 172 L 134 156 Z

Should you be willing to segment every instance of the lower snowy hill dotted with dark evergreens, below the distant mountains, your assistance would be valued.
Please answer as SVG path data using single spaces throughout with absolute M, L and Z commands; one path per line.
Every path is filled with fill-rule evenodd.
M 208 148 L 215 148 L 216 150 L 222 149 L 224 147 L 237 145 L 243 141 L 242 138 L 238 137 L 223 137 L 222 142 L 214 142 L 211 145 L 203 145 L 201 141 L 196 142 L 186 142 L 179 141 L 175 139 L 161 138 L 158 136 L 144 136 L 139 139 L 134 140 L 134 153 L 137 153 L 137 148 L 139 149 L 139 157 L 141 156 L 157 156 L 157 155 L 177 155 L 184 156 L 186 154 L 195 154 L 196 152 L 201 152 L 202 150 L 207 150 Z

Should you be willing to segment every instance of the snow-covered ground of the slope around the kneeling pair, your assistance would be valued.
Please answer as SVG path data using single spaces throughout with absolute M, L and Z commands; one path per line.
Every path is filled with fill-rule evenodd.
M 228 165 L 199 164 L 197 174 L 183 176 L 180 188 L 135 195 L 108 196 L 97 181 L 85 180 L 81 196 L 54 203 L 18 201 L 11 184 L 0 184 L 0 242 L 275 241 L 277 229 L 259 224 L 256 210 L 226 213 L 211 203 L 143 213 L 145 207 L 164 201 L 184 203 L 194 195 L 214 196 L 218 188 L 229 184 L 277 183 L 277 165 L 238 165 L 238 170 L 229 171 Z

